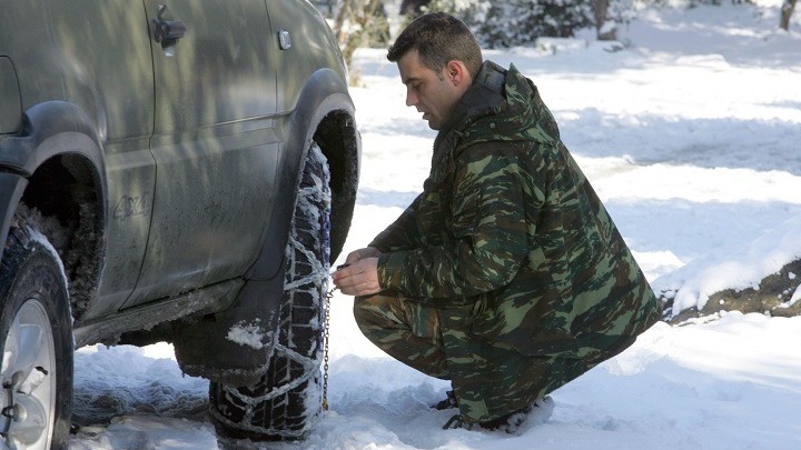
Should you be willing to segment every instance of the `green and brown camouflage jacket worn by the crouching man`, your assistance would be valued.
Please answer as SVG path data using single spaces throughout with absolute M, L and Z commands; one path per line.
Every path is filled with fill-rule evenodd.
M 435 140 L 423 193 L 370 246 L 384 252 L 383 288 L 439 312 L 459 403 L 471 404 L 467 388 L 483 390 L 462 408 L 475 420 L 504 411 L 493 399 L 508 398 L 518 380 L 461 383 L 475 376 L 469 361 L 492 364 L 503 348 L 582 361 L 564 383 L 661 313 L 536 87 L 514 66 L 484 63 Z M 516 364 L 504 358 L 498 364 Z M 537 389 L 528 393 L 546 393 Z

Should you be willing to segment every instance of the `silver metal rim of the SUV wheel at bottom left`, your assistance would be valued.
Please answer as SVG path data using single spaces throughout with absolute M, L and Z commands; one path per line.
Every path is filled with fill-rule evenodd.
M 44 307 L 27 300 L 6 336 L 0 431 L 10 448 L 49 449 L 56 409 L 56 351 Z

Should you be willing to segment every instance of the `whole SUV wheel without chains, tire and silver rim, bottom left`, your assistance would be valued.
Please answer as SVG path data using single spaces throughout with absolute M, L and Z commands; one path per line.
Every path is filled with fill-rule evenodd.
M 56 250 L 14 218 L 0 262 L 0 442 L 47 450 L 69 446 L 72 324 Z

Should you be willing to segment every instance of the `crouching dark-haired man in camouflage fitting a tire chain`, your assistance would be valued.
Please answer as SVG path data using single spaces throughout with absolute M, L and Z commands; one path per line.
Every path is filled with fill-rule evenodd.
M 458 19 L 389 48 L 406 104 L 438 131 L 423 193 L 334 283 L 362 332 L 451 380 L 447 426 L 506 428 L 631 346 L 661 307 L 537 88 L 483 61 Z M 550 399 L 548 399 L 550 400 Z

